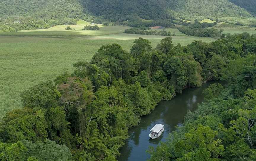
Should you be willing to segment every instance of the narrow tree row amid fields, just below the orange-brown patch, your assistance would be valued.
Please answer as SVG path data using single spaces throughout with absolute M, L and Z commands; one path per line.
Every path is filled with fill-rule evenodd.
M 170 31 L 166 30 L 161 30 L 161 31 L 156 31 L 156 30 L 143 30 L 143 29 L 137 29 L 137 28 L 131 28 L 131 29 L 126 29 L 124 30 L 124 33 L 126 34 L 140 34 L 140 35 L 161 35 L 161 36 L 171 36 L 172 33 Z

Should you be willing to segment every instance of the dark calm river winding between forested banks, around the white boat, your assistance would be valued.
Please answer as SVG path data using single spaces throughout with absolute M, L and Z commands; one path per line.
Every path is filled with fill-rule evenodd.
M 150 157 L 145 152 L 148 147 L 156 147 L 160 141 L 166 141 L 168 134 L 175 130 L 175 126 L 183 123 L 187 111 L 194 111 L 197 104 L 204 101 L 202 91 L 211 83 L 214 82 L 205 83 L 200 88 L 185 89 L 182 94 L 170 101 L 160 102 L 152 113 L 143 116 L 138 126 L 129 129 L 129 139 L 120 149 L 121 156 L 117 158 L 118 161 L 147 160 Z M 155 124 L 164 124 L 165 130 L 159 138 L 152 140 L 148 134 Z

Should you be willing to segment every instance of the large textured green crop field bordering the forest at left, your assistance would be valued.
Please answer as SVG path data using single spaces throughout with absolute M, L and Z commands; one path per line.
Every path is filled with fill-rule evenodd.
M 3 39 L 5 38 L 1 37 L 1 40 Z M 126 50 L 132 46 L 132 41 L 114 42 Z M 39 82 L 53 79 L 65 69 L 72 72 L 73 63 L 79 60 L 89 61 L 101 45 L 111 43 L 113 40 L 108 39 L 55 38 L 48 38 L 47 41 L 35 38 L 33 41 L 0 43 L 0 117 L 7 111 L 21 107 L 21 91 Z

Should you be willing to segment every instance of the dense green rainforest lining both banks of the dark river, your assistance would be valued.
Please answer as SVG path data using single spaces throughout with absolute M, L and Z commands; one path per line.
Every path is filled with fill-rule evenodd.
M 169 142 L 151 149 L 151 159 L 254 160 L 255 45 L 256 35 L 248 33 L 185 47 L 167 37 L 155 49 L 139 38 L 130 52 L 103 45 L 89 63 L 73 64 L 73 73 L 21 94 L 24 108 L 1 120 L 0 158 L 114 161 L 128 129 L 161 100 L 222 79 L 229 88 L 205 90 L 209 102 L 189 112 Z

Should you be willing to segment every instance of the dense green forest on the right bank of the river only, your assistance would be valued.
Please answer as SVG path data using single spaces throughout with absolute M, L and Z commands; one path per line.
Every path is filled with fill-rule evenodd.
M 231 59 L 222 75 L 227 86 L 205 89 L 207 101 L 187 113 L 166 143 L 148 150 L 150 161 L 256 160 L 255 74 L 255 53 Z

